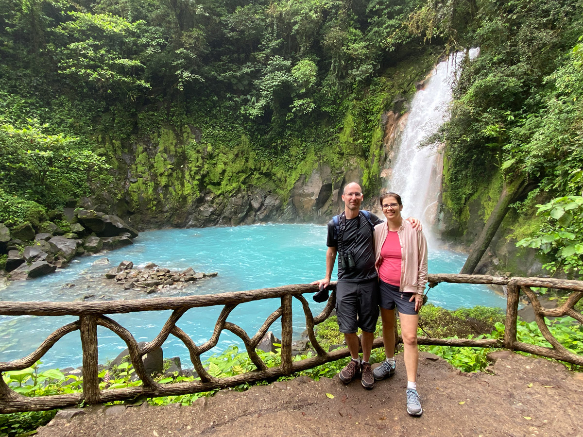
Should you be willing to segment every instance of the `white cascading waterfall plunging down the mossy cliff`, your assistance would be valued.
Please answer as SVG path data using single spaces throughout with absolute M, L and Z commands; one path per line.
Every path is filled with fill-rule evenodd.
M 479 48 L 469 51 L 474 59 Z M 413 98 L 405 128 L 399 136 L 396 158 L 389 169 L 385 191 L 401 195 L 404 217 L 422 220 L 430 231 L 437 213 L 441 190 L 442 156 L 434 148 L 419 148 L 427 136 L 437 132 L 447 121 L 447 105 L 452 98 L 452 84 L 459 77 L 465 52 L 449 56 L 433 69 L 423 89 Z

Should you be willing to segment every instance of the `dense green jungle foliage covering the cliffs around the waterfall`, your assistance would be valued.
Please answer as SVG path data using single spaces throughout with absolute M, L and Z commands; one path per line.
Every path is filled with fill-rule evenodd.
M 444 205 L 463 228 L 484 183 L 525 188 L 514 199 L 519 244 L 550 255 L 550 270 L 580 276 L 581 7 L 0 0 L 0 221 L 92 189 L 133 202 L 180 192 L 177 205 L 250 185 L 285 198 L 320 162 L 353 163 L 373 192 L 382 113 L 412 96 L 440 55 L 479 46 L 451 121 L 431 139 L 445 143 Z M 161 151 L 150 153 L 146 136 Z M 132 174 L 149 171 L 158 185 L 144 177 L 124 187 L 128 150 Z M 170 154 L 180 156 L 167 162 Z

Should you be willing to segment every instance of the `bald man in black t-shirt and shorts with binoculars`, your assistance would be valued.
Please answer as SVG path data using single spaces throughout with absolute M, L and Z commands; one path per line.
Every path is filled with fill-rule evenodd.
M 363 193 L 360 185 L 351 182 L 342 194 L 344 212 L 328 223 L 326 245 L 326 277 L 314 281 L 320 290 L 330 283 L 332 270 L 338 259 L 338 284 L 336 285 L 336 316 L 340 332 L 344 333 L 346 346 L 352 360 L 339 373 L 343 383 L 349 383 L 361 373 L 361 383 L 370 390 L 374 387 L 370 353 L 378 319 L 378 276 L 374 266 L 373 227 L 383 220 L 372 213 L 360 211 Z M 409 218 L 416 227 L 418 221 Z M 318 293 L 319 294 L 319 293 Z M 317 297 L 314 297 L 317 299 Z M 359 357 L 358 328 L 362 330 L 362 360 Z

